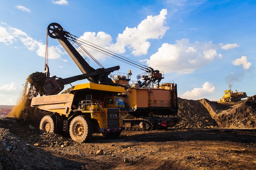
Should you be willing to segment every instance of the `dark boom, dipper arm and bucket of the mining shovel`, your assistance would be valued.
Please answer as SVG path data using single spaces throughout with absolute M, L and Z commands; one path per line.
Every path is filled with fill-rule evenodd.
M 63 48 L 70 55 L 75 64 L 79 67 L 82 75 L 76 75 L 68 78 L 58 78 L 56 76 L 49 77 L 49 67 L 47 64 L 45 65 L 45 82 L 43 83 L 43 88 L 41 88 L 40 83 L 38 83 L 37 73 L 33 76 L 30 76 L 30 83 L 37 82 L 34 84 L 38 84 L 38 89 L 40 89 L 40 95 L 56 95 L 64 89 L 65 84 L 70 84 L 77 80 L 88 79 L 89 82 L 96 84 L 108 84 L 108 85 L 117 85 L 112 79 L 108 77 L 108 75 L 113 72 L 119 70 L 119 66 L 114 66 L 110 68 L 92 68 L 88 62 L 81 56 L 81 54 L 76 50 L 76 48 L 70 43 L 70 39 L 75 41 L 73 36 L 65 31 L 60 24 L 52 23 L 47 27 L 47 33 L 51 38 L 58 39 Z

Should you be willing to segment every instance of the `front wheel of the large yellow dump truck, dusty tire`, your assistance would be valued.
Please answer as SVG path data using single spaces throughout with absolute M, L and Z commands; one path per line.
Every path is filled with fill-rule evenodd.
M 74 117 L 70 122 L 70 137 L 76 142 L 90 141 L 92 138 L 92 124 L 83 115 Z

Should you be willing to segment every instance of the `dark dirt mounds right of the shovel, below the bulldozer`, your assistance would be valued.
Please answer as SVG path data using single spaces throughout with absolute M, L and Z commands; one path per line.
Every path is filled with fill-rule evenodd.
M 178 98 L 177 128 L 256 128 L 256 95 L 239 102 Z

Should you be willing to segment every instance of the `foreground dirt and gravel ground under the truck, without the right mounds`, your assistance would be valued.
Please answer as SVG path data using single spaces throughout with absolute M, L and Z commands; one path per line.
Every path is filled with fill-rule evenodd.
M 255 170 L 256 130 L 124 131 L 76 143 L 0 119 L 0 170 Z M 8 149 L 7 149 L 8 148 Z

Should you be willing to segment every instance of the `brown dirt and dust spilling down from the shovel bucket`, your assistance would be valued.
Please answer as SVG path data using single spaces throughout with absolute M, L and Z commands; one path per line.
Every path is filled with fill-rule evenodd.
M 42 117 L 42 113 L 34 108 L 30 107 L 32 97 L 38 96 L 41 88 L 37 90 L 35 87 L 39 87 L 38 79 L 40 79 L 40 86 L 43 87 L 43 82 L 45 81 L 45 77 L 43 73 L 33 73 L 27 77 L 27 81 L 25 83 L 23 92 L 18 99 L 17 105 L 13 107 L 9 115 L 7 117 L 13 117 L 14 119 L 21 121 L 29 121 L 30 123 L 38 124 Z M 30 87 L 28 88 L 30 84 Z M 36 84 L 36 86 L 35 86 Z

